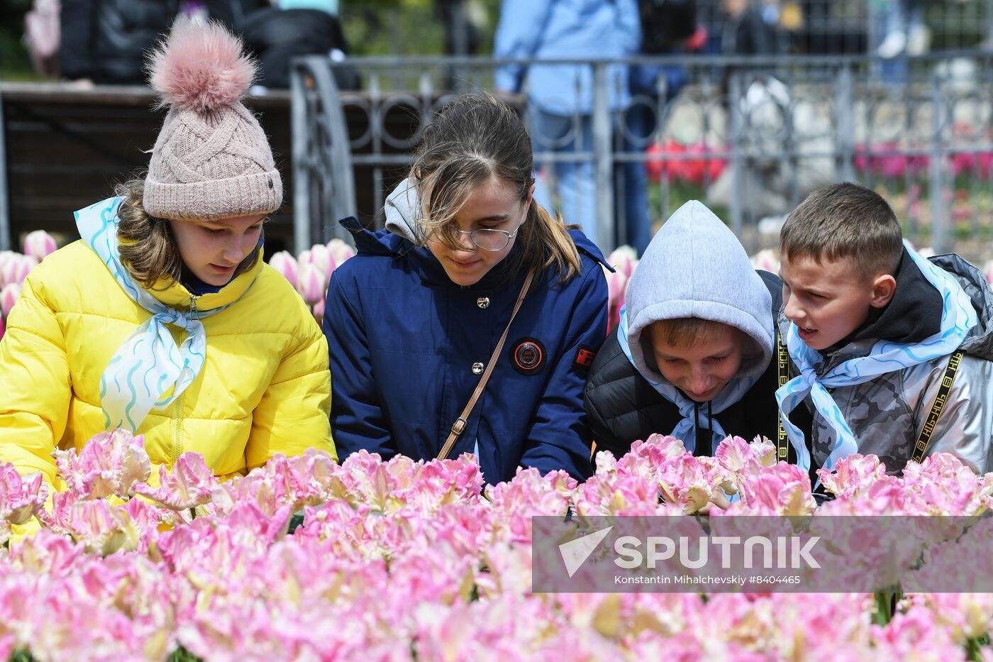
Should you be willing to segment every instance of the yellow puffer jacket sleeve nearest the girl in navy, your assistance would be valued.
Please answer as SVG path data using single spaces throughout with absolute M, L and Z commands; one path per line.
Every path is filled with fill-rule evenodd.
M 307 321 L 304 341 L 283 357 L 252 413 L 245 448 L 249 470 L 265 464 L 275 453 L 300 455 L 312 446 L 338 460 L 331 438 L 328 343 L 313 318 Z

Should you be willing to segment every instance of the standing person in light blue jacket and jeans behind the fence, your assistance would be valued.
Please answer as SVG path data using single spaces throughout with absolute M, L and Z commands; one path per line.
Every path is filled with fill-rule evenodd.
M 636 55 L 640 22 L 636 0 L 503 0 L 494 45 L 497 58 L 602 60 Z M 631 102 L 626 66 L 608 70 L 608 105 L 624 110 Z M 531 139 L 542 152 L 562 159 L 568 152 L 593 149 L 593 67 L 507 65 L 497 70 L 499 91 L 526 91 Z M 568 157 L 566 157 L 568 158 Z M 556 160 L 551 174 L 558 184 L 559 210 L 595 241 L 596 192 L 592 158 Z M 540 178 L 539 178 L 540 179 Z M 551 192 L 538 187 L 543 207 L 552 209 Z

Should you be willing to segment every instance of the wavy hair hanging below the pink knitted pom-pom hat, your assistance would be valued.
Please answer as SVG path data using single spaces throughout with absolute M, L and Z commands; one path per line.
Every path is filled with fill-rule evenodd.
M 162 278 L 179 282 L 183 276 L 183 257 L 169 221 L 145 211 L 144 191 L 145 182 L 141 179 L 131 179 L 114 188 L 114 193 L 123 198 L 117 209 L 117 239 L 121 263 L 142 287 L 151 289 Z M 235 274 L 254 266 L 258 255 L 258 250 L 253 250 L 238 264 Z

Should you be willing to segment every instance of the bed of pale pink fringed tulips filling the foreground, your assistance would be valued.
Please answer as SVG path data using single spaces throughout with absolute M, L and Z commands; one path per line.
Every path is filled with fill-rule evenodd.
M 897 478 L 856 455 L 821 474 L 836 499 L 818 508 L 807 476 L 774 457 L 766 440 L 729 437 L 696 458 L 653 435 L 622 458 L 600 453 L 581 485 L 521 469 L 482 489 L 470 455 L 364 452 L 342 465 L 276 456 L 218 484 L 199 455 L 155 474 L 142 437 L 104 433 L 56 452 L 67 491 L 51 509 L 40 477 L 0 466 L 4 531 L 43 523 L 0 550 L 0 659 L 993 659 L 991 594 L 907 595 L 891 613 L 871 593 L 529 592 L 533 515 L 717 503 L 731 514 L 976 515 L 993 493 L 993 474 L 951 456 Z

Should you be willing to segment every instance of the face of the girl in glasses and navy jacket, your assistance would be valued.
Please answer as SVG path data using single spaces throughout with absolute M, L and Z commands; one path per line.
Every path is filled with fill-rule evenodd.
M 513 248 L 516 235 L 499 250 L 486 250 L 473 244 L 468 234 L 474 230 L 502 230 L 516 233 L 517 228 L 525 222 L 527 210 L 531 205 L 534 186 L 527 192 L 527 199 L 521 200 L 517 189 L 505 180 L 492 178 L 486 184 L 477 187 L 466 200 L 453 223 L 463 231 L 456 235 L 458 250 L 448 248 L 443 243 L 428 237 L 428 249 L 438 258 L 445 273 L 457 285 L 474 285 L 485 276 L 490 269 L 497 266 Z

